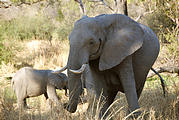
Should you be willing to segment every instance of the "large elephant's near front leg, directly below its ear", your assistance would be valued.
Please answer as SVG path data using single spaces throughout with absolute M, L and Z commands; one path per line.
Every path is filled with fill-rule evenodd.
M 135 85 L 135 78 L 132 66 L 132 57 L 127 57 L 119 66 L 116 67 L 120 81 L 122 83 L 125 96 L 127 98 L 129 111 L 135 111 L 139 108 L 138 96 Z M 136 112 L 135 115 L 139 113 Z

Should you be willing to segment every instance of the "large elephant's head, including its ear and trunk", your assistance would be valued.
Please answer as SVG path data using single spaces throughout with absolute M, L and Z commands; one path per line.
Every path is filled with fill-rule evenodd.
M 78 20 L 69 36 L 68 111 L 75 112 L 82 92 L 81 74 L 90 60 L 99 59 L 99 71 L 120 64 L 127 56 L 141 48 L 144 32 L 140 25 L 120 14 L 85 17 Z

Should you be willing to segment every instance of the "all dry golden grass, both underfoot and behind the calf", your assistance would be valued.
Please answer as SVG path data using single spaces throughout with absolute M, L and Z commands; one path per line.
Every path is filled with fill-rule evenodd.
M 27 63 L 38 69 L 56 69 L 56 66 L 64 66 L 68 57 L 68 43 L 65 41 L 27 41 L 22 42 L 22 51 L 17 51 L 15 64 L 2 64 L 0 71 L 0 120 L 99 120 L 99 111 L 102 104 L 93 97 L 86 95 L 82 98 L 83 104 L 78 105 L 75 113 L 71 114 L 64 109 L 64 103 L 68 97 L 64 91 L 58 91 L 60 105 L 51 110 L 46 108 L 44 96 L 29 98 L 27 100 L 31 109 L 22 113 L 17 108 L 16 98 L 11 97 L 11 80 L 9 74 L 14 73 Z M 59 47 L 60 46 L 60 47 Z M 152 78 L 147 81 L 139 100 L 142 114 L 139 119 L 147 120 L 177 120 L 179 116 L 179 77 L 163 75 L 167 84 L 167 96 L 163 97 L 160 81 Z M 88 106 L 90 107 L 88 108 Z M 125 120 L 127 116 L 127 103 L 124 94 L 119 93 L 116 101 L 110 107 L 109 116 L 114 120 Z

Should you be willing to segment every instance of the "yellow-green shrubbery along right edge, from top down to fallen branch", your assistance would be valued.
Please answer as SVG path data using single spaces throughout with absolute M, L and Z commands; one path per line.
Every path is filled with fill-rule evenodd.
M 167 59 L 166 64 L 179 65 L 179 8 L 175 0 L 159 0 L 150 3 L 149 6 L 154 12 L 146 16 L 146 22 L 152 30 L 157 34 L 161 48 L 165 49 L 166 56 L 162 59 Z M 164 50 L 163 49 L 163 50 Z

